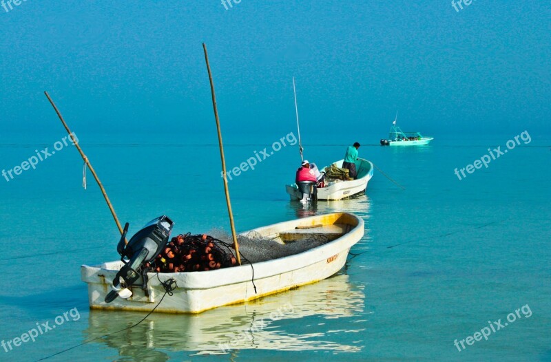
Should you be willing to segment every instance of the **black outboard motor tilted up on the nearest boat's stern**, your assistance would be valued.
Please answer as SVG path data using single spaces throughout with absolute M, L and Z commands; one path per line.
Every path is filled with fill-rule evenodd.
M 116 247 L 116 251 L 121 255 L 121 262 L 125 265 L 116 274 L 112 290 L 105 297 L 105 303 L 111 303 L 116 297 L 126 299 L 132 295 L 128 287 L 139 279 L 143 264 L 151 262 L 163 250 L 173 226 L 174 222 L 166 215 L 157 217 L 143 226 L 141 231 L 138 231 L 125 245 L 128 231 L 128 223 L 126 223 L 121 240 Z

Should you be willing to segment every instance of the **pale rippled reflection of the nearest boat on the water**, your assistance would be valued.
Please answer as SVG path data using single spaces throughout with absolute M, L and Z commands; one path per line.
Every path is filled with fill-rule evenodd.
M 194 354 L 225 354 L 247 349 L 359 352 L 363 346 L 359 344 L 358 333 L 364 330 L 364 325 L 357 319 L 364 315 L 364 297 L 362 284 L 351 284 L 348 275 L 335 275 L 297 290 L 200 315 L 154 313 L 138 326 L 92 343 L 105 343 L 121 356 L 131 356 L 136 361 L 167 361 L 171 358 L 167 353 L 177 351 Z M 90 310 L 85 339 L 122 330 L 143 317 L 144 313 L 137 312 Z M 331 326 L 330 319 L 346 320 Z

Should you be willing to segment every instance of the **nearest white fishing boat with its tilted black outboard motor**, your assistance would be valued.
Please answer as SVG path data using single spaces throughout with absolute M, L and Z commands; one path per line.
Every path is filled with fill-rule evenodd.
M 156 230 L 150 235 L 158 234 L 159 228 L 169 233 L 171 221 L 160 217 L 134 235 L 128 246 L 135 249 L 135 255 L 145 256 L 145 249 L 149 247 L 145 242 L 151 239 L 144 235 L 152 228 Z M 141 311 L 155 308 L 156 312 L 200 313 L 311 284 L 334 275 L 344 266 L 351 246 L 364 235 L 364 221 L 351 213 L 331 213 L 264 226 L 240 235 L 252 242 L 258 241 L 258 245 L 269 246 L 271 251 L 278 249 L 285 256 L 256 262 L 242 249 L 242 255 L 251 264 L 209 271 L 147 273 L 145 277 L 132 278 L 129 285 L 121 282 L 123 287 L 118 288 L 113 281 L 121 277 L 119 272 L 123 272 L 125 278 L 134 272 L 134 265 L 141 263 L 136 262 L 136 257 L 126 264 L 115 261 L 97 266 L 83 265 L 81 277 L 88 284 L 90 308 Z M 125 234 L 121 242 L 124 237 Z M 145 246 L 138 251 L 141 245 Z M 155 248 L 156 245 L 152 250 Z M 176 281 L 176 289 L 172 295 L 165 295 L 163 283 L 169 279 Z M 110 299 L 114 291 L 121 297 Z

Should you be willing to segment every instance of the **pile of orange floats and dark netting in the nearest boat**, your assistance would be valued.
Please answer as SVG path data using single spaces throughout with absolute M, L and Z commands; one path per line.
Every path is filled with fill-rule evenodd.
M 173 237 L 154 261 L 145 268 L 158 273 L 181 273 L 228 268 L 236 265 L 231 244 L 209 235 Z

